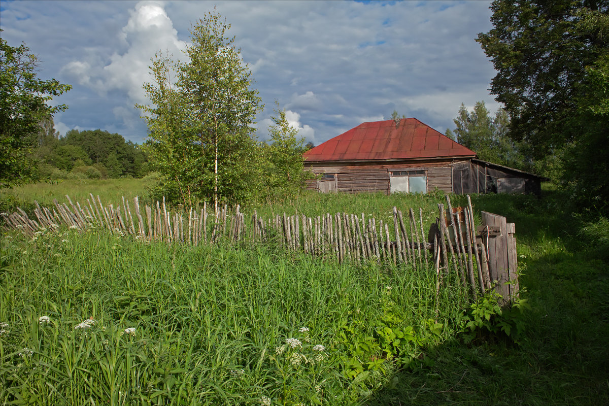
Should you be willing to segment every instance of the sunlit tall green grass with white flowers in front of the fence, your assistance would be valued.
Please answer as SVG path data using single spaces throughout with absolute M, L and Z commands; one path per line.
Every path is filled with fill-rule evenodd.
M 465 306 L 432 270 L 103 231 L 9 234 L 0 278 L 1 404 L 356 404 Z

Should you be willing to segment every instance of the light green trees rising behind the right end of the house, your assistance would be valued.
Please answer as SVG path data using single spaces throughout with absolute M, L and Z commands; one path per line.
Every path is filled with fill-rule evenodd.
M 516 169 L 529 169 L 522 145 L 509 137 L 510 118 L 505 110 L 500 108 L 493 119 L 484 102 L 476 102 L 471 112 L 462 104 L 454 123 L 457 128 L 446 130 L 446 136 L 456 137 L 455 141 L 476 152 L 478 158 Z

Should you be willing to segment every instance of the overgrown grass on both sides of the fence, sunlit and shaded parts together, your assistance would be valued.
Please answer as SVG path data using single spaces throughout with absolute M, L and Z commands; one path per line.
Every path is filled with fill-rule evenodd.
M 244 211 L 382 218 L 441 201 L 303 194 Z M 565 201 L 473 196 L 474 211 L 516 223 L 531 309 L 510 337 L 492 301 L 474 306 L 490 320 L 451 289 L 436 301 L 433 270 L 320 262 L 272 244 L 4 233 L 0 404 L 608 404 L 609 227 L 565 214 Z

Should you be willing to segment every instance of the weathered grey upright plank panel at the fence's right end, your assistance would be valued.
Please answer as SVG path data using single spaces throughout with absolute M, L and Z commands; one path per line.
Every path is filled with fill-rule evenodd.
M 507 223 L 505 217 L 481 212 L 482 226 L 499 228 L 498 235 L 486 234 L 482 238 L 488 253 L 488 273 L 495 292 L 503 296 L 502 304 L 518 294 L 518 260 L 516 256 L 516 226 Z M 483 231 L 484 233 L 484 231 Z M 507 283 L 509 282 L 509 283 Z

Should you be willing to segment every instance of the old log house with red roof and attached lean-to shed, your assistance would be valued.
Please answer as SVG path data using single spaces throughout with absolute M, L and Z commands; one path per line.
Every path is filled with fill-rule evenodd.
M 542 177 L 477 159 L 415 118 L 365 122 L 303 154 L 320 192 L 535 193 Z

